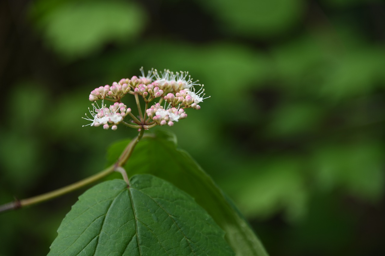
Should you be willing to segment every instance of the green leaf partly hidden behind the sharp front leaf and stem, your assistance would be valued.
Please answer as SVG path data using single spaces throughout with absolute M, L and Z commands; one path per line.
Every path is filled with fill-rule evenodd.
M 112 145 L 109 163 L 114 163 L 129 141 Z M 226 240 L 237 255 L 267 255 L 247 221 L 233 207 L 223 192 L 185 151 L 176 148 L 171 133 L 157 131 L 137 144 L 126 171 L 129 176 L 149 173 L 171 182 L 187 192 L 226 232 Z

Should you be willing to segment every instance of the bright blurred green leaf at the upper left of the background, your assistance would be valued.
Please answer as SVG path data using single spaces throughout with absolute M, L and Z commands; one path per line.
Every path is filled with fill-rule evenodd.
M 107 43 L 136 39 L 147 20 L 132 1 L 40 0 L 31 16 L 47 46 L 70 60 L 99 51 Z

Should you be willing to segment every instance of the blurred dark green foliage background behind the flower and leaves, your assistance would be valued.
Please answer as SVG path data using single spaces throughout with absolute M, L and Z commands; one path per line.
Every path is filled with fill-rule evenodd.
M 0 203 L 136 135 L 82 128 L 95 87 L 188 70 L 211 98 L 169 129 L 271 255 L 385 253 L 384 2 L 7 0 L 0 24 Z M 1 214 L 0 254 L 47 254 L 84 190 Z

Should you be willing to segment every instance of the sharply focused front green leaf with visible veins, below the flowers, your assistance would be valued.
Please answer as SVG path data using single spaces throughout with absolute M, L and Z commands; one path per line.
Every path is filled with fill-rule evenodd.
M 48 255 L 233 255 L 191 196 L 152 175 L 100 183 L 72 206 Z

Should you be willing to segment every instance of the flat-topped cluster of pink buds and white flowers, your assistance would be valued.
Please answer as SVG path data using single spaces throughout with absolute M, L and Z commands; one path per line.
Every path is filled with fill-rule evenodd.
M 204 97 L 203 85 L 198 83 L 199 80 L 192 80 L 187 71 L 174 73 L 166 69 L 162 72 L 151 69 L 147 75 L 144 74 L 143 67 L 140 71 L 139 77 L 122 78 L 111 86 L 100 86 L 91 91 L 89 100 L 95 102 L 102 100 L 102 107 L 92 104 L 93 110 L 89 110 L 92 118 L 87 115 L 85 118 L 92 121 L 90 126 L 103 125 L 104 129 L 111 127 L 112 130 L 116 130 L 119 123 L 138 130 L 149 129 L 156 125 L 172 126 L 174 122 L 187 117 L 186 108 L 199 110 L 201 107 L 198 104 L 209 98 Z M 199 86 L 199 90 L 196 90 Z M 127 109 L 127 106 L 121 103 L 122 98 L 127 94 L 135 96 L 138 116 L 133 115 L 131 109 Z M 144 115 L 142 115 L 138 95 L 142 96 L 146 104 Z M 159 102 L 149 106 L 149 102 L 156 98 L 159 98 Z M 103 105 L 104 100 L 115 103 L 107 108 Z M 162 101 L 165 101 L 164 106 L 161 106 Z M 124 121 L 128 115 L 131 116 L 130 123 Z

